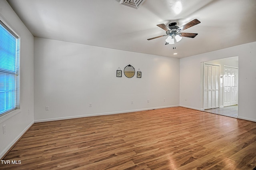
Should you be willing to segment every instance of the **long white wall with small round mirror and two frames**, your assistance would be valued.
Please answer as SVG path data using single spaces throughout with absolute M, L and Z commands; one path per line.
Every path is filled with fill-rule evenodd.
M 34 38 L 35 122 L 178 105 L 179 59 Z

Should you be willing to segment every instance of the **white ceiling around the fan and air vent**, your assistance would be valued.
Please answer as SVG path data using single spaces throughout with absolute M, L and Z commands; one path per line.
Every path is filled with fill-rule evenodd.
M 256 41 L 256 0 L 146 0 L 138 9 L 119 0 L 7 1 L 40 38 L 177 58 Z M 175 50 L 164 45 L 166 37 L 147 40 L 166 34 L 157 24 L 195 18 L 201 23 L 182 32 L 198 35 L 182 38 Z

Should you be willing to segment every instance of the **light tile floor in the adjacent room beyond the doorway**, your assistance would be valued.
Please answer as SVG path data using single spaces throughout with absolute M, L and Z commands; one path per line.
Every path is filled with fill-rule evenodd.
M 228 116 L 228 117 L 237 118 L 238 105 L 226 106 L 226 107 L 215 108 L 215 109 L 206 109 L 204 111 L 208 112 L 208 113 L 215 113 L 218 115 L 224 115 L 224 116 Z

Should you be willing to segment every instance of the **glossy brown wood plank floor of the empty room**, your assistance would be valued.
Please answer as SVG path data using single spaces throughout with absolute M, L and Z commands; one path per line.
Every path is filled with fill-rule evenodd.
M 0 169 L 252 170 L 256 123 L 174 107 L 34 124 Z

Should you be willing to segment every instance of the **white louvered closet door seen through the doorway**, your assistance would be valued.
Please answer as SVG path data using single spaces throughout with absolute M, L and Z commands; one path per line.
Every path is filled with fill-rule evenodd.
M 204 65 L 204 109 L 219 107 L 220 67 Z

